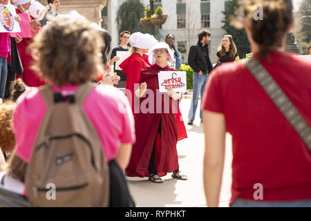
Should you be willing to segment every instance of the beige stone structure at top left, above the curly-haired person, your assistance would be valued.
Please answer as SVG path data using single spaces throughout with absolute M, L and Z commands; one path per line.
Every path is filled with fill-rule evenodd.
M 38 0 L 44 6 L 48 0 Z M 59 14 L 66 14 L 70 10 L 76 10 L 88 21 L 95 22 L 100 26 L 102 22 L 102 9 L 106 7 L 106 0 L 60 0 Z

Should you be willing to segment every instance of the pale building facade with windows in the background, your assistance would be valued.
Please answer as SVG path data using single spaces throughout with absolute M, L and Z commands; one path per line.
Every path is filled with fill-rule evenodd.
M 102 28 L 111 32 L 112 46 L 119 44 L 116 15 L 118 8 L 126 0 L 108 0 L 102 11 Z M 149 6 L 149 0 L 141 0 Z M 227 0 L 154 0 L 155 10 L 162 6 L 164 14 L 168 14 L 167 22 L 160 27 L 160 39 L 168 34 L 176 37 L 176 47 L 181 52 L 182 62 L 187 63 L 188 50 L 198 41 L 198 32 L 207 29 L 211 32 L 210 58 L 214 62 L 221 38 L 225 35 L 222 20 Z

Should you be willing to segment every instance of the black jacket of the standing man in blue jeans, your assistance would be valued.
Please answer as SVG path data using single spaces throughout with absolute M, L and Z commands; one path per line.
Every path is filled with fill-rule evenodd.
M 203 75 L 210 73 L 213 66 L 211 65 L 211 59 L 209 59 L 208 46 L 205 45 L 203 47 L 200 41 L 194 46 L 191 46 L 188 55 L 188 64 L 196 73 L 199 73 L 200 70 Z

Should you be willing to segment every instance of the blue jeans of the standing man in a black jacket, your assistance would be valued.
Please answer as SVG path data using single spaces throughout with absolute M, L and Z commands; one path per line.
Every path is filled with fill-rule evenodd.
M 196 108 L 198 107 L 198 97 L 199 93 L 201 95 L 201 100 L 203 97 L 203 92 L 205 88 L 205 83 L 207 81 L 207 75 L 198 75 L 197 72 L 194 72 L 194 93 L 192 95 L 191 106 L 188 114 L 188 119 L 194 121 L 196 117 Z M 202 119 L 202 111 L 200 111 L 200 118 Z

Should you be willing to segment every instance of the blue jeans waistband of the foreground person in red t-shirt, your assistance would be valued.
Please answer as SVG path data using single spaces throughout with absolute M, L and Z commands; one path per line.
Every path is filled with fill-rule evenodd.
M 289 202 L 264 202 L 237 199 L 231 207 L 311 207 L 311 200 L 297 200 Z

